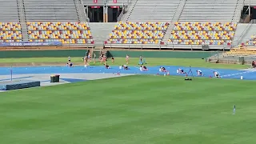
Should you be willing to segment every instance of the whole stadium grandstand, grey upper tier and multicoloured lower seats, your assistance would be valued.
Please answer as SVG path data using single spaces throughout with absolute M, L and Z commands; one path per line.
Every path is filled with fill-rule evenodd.
M 0 0 L 0 42 L 230 50 L 256 44 L 255 6 L 255 0 Z

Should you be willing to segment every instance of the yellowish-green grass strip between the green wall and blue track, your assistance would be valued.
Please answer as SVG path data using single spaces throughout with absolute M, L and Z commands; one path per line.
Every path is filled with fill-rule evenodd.
M 0 63 L 20 63 L 20 62 L 63 62 L 66 64 L 67 58 L 1 58 Z M 82 58 L 72 58 L 72 62 L 82 62 Z M 246 65 L 234 65 L 234 64 L 216 64 L 207 63 L 205 59 L 200 58 L 146 58 L 148 66 L 194 66 L 194 67 L 206 67 L 206 68 L 222 68 L 222 69 L 245 69 Z M 115 58 L 116 66 L 122 66 L 126 63 L 125 58 Z M 94 65 L 91 63 L 91 65 Z M 99 62 L 96 65 L 100 65 Z M 111 65 L 111 64 L 110 64 Z M 138 65 L 138 58 L 130 58 L 130 66 Z

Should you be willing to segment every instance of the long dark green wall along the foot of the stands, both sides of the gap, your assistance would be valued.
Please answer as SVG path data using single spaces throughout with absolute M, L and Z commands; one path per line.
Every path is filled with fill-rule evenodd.
M 61 58 L 61 57 L 83 57 L 87 50 L 10 50 L 0 51 L 0 58 Z M 208 58 L 218 52 L 201 51 L 128 51 L 128 50 L 110 50 L 108 57 L 126 57 L 138 58 L 140 55 L 146 58 Z M 97 57 L 99 52 L 96 54 Z

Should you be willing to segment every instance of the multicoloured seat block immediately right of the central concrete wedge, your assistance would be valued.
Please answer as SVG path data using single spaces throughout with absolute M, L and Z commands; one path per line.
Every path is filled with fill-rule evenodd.
M 127 44 L 160 44 L 168 22 L 119 22 L 108 42 Z

